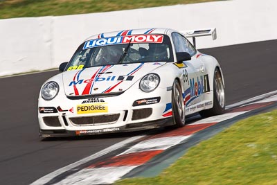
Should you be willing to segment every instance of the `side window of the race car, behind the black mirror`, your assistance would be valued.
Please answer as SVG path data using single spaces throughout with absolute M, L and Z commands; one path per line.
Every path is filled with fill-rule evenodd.
M 172 39 L 176 52 L 187 52 L 190 53 L 191 56 L 195 55 L 196 50 L 186 37 L 179 33 L 172 33 Z

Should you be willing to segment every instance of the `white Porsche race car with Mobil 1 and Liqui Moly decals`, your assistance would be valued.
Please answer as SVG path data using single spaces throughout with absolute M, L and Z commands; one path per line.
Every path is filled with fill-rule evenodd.
M 89 37 L 62 73 L 39 94 L 39 135 L 80 136 L 183 127 L 185 115 L 222 114 L 220 64 L 199 53 L 186 37 L 215 28 L 178 33 L 166 28 L 122 30 Z

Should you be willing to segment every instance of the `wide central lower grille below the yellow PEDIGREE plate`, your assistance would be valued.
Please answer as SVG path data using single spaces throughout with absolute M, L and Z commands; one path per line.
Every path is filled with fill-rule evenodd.
M 114 124 L 118 120 L 120 114 L 109 114 L 100 116 L 86 116 L 78 118 L 69 118 L 74 125 L 103 125 Z

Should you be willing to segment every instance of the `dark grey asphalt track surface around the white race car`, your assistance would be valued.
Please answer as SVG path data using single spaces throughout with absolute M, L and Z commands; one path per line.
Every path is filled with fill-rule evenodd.
M 226 104 L 230 105 L 277 89 L 276 49 L 277 40 L 271 40 L 200 51 L 219 60 L 226 85 Z M 39 89 L 56 73 L 0 78 L 0 184 L 30 184 L 58 168 L 143 133 L 39 139 Z

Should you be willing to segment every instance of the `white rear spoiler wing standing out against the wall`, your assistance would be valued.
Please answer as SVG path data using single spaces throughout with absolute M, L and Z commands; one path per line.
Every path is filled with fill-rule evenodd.
M 206 28 L 202 30 L 184 30 L 180 32 L 185 37 L 193 37 L 193 45 L 196 47 L 195 37 L 212 35 L 213 40 L 217 39 L 216 28 Z

